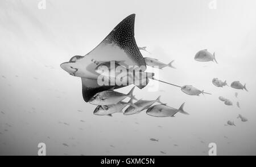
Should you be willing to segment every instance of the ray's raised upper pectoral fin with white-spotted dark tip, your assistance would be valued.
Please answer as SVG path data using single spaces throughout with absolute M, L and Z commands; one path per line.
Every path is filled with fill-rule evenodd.
M 86 56 L 93 55 L 93 59 L 112 59 L 126 67 L 139 66 L 143 71 L 146 70 L 146 62 L 134 38 L 134 22 L 135 14 L 127 16 Z

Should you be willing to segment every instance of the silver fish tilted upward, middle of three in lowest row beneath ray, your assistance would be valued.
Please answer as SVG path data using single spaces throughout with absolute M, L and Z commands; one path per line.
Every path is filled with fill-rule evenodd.
M 137 102 L 134 103 L 137 108 L 134 108 L 133 106 L 129 106 L 126 110 L 124 115 L 131 115 L 135 113 L 140 113 L 142 110 L 148 109 L 152 104 L 155 102 L 159 102 L 160 104 L 163 104 L 163 102 L 160 101 L 159 96 L 156 100 L 138 100 Z

